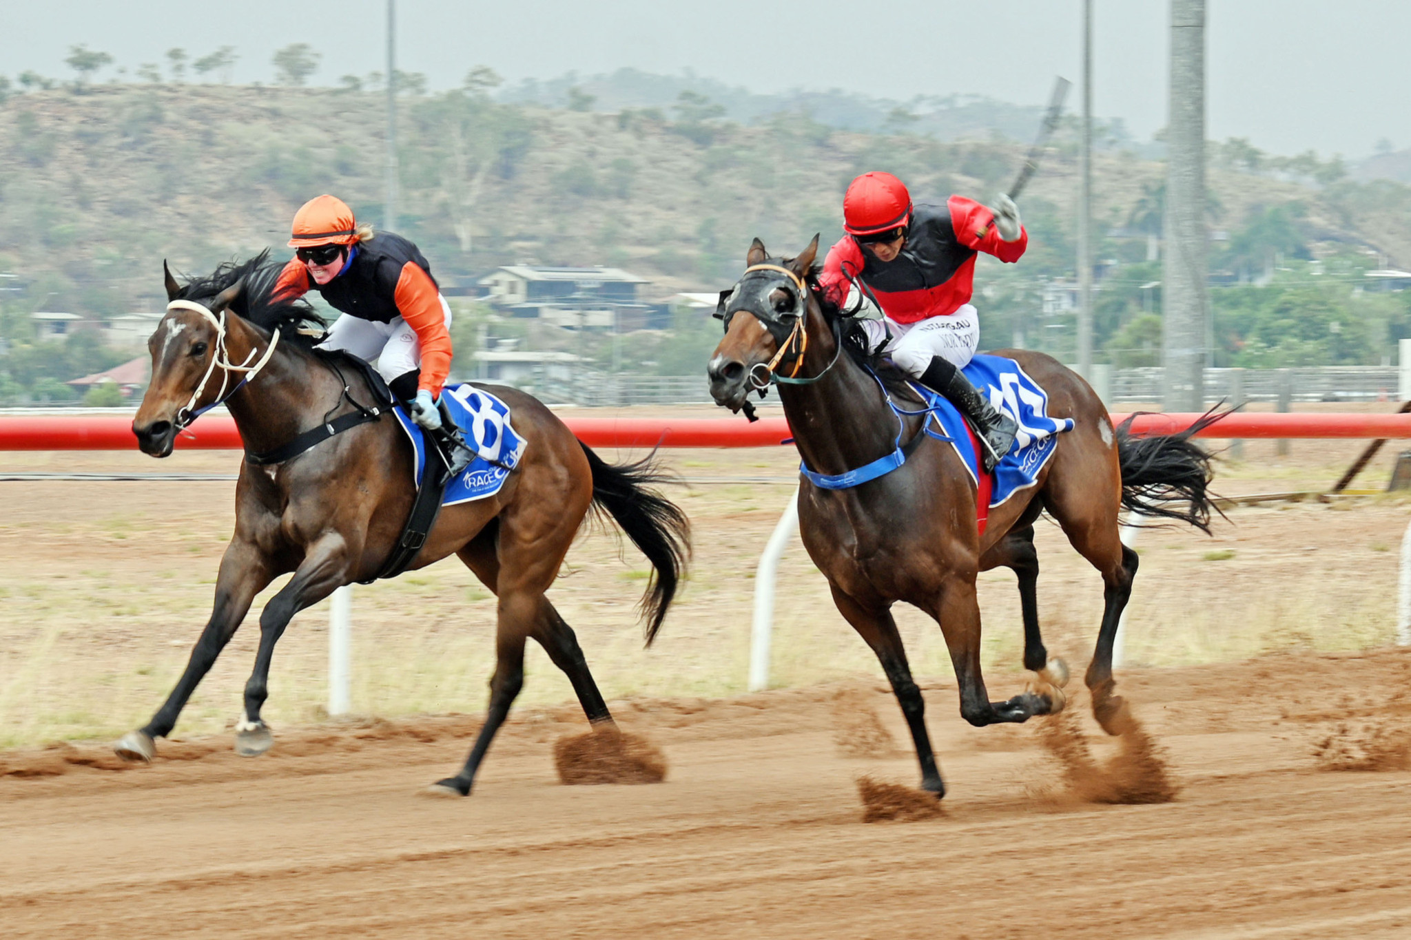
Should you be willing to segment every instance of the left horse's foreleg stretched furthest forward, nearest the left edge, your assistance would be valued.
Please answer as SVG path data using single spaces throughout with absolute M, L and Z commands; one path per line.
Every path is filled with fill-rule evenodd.
M 216 657 L 236 636 L 236 630 L 240 629 L 240 621 L 250 612 L 255 595 L 270 583 L 272 576 L 264 554 L 254 545 L 231 541 L 226 547 L 226 554 L 220 559 L 220 572 L 216 576 L 214 607 L 205 630 L 200 631 L 200 638 L 192 647 L 185 672 L 152 720 L 137 731 L 128 731 L 114 746 L 113 750 L 117 751 L 119 757 L 128 761 L 152 760 L 157 754 L 155 738 L 166 737 L 176 727 L 181 710 L 186 707 L 196 686 L 214 665 Z

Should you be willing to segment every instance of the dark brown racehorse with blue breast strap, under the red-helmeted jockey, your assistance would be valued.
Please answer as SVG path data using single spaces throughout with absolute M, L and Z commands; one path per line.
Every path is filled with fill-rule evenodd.
M 890 395 L 919 400 L 888 364 L 868 354 L 855 324 L 818 289 L 818 238 L 797 258 L 769 258 L 756 238 L 748 269 L 724 310 L 725 338 L 708 365 L 711 396 L 731 410 L 751 392 L 779 385 L 779 397 L 804 464 L 845 474 L 897 450 L 899 416 L 875 375 L 892 379 Z M 748 316 L 742 316 L 748 314 Z M 944 795 L 892 605 L 912 603 L 945 636 L 959 684 L 961 715 L 971 724 L 1024 722 L 1057 712 L 1067 681 L 1061 661 L 1048 662 L 1038 633 L 1038 558 L 1033 524 L 1048 512 L 1072 547 L 1102 574 L 1106 606 L 1086 684 L 1094 713 L 1109 734 L 1125 727 L 1125 703 L 1112 693 L 1112 643 L 1132 593 L 1137 555 L 1118 537 L 1126 506 L 1206 528 L 1209 458 L 1188 438 L 1215 420 L 1180 434 L 1130 438 L 1113 428 L 1094 390 L 1075 372 L 1040 352 L 1002 350 L 1048 393 L 1048 414 L 1071 417 L 1037 483 L 993 507 L 985 534 L 976 526 L 976 490 L 954 448 L 921 435 L 921 419 L 900 416 L 910 454 L 897 469 L 849 489 L 823 489 L 807 479 L 799 490 L 803 544 L 828 578 L 834 603 L 876 653 L 921 764 L 921 786 Z M 903 444 L 903 451 L 909 445 Z M 1024 667 L 1038 672 L 1030 691 L 991 702 L 981 675 L 981 621 L 975 576 L 999 565 L 1019 576 L 1024 620 Z

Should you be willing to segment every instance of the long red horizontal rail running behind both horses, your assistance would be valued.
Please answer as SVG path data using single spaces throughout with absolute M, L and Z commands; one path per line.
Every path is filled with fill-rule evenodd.
M 590 417 L 563 414 L 564 423 L 590 447 L 773 447 L 789 437 L 783 417 L 753 424 L 742 417 Z M 1126 419 L 1113 414 L 1113 423 Z M 1139 434 L 1170 434 L 1198 414 L 1143 414 Z M 1290 438 L 1352 437 L 1411 438 L 1411 414 L 1230 414 L 1202 437 Z M 226 414 L 207 414 L 176 443 L 181 448 L 238 450 L 240 434 Z M 0 451 L 126 451 L 137 447 L 133 419 L 124 414 L 0 416 Z

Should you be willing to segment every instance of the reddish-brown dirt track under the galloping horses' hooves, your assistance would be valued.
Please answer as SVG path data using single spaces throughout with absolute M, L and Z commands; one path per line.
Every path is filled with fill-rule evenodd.
M 557 782 L 570 707 L 519 712 L 450 802 L 418 789 L 474 719 L 292 731 L 253 761 L 229 737 L 164 743 L 188 760 L 124 772 L 65 760 L 97 748 L 10 753 L 0 933 L 1405 937 L 1411 774 L 1325 767 L 1377 730 L 1404 765 L 1408 685 L 1411 651 L 1129 672 L 1180 788 L 1144 806 L 1065 798 L 1041 719 L 969 729 L 933 685 L 951 795 L 916 823 L 861 822 L 858 775 L 916 779 L 895 705 L 861 682 L 619 702 L 670 761 L 648 786 Z M 840 726 L 869 710 L 902 748 L 840 757 Z M 13 775 L 45 769 L 68 772 Z

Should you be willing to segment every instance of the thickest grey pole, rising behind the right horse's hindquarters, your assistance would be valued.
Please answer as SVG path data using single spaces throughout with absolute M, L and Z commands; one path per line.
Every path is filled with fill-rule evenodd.
M 1171 0 L 1161 362 L 1164 407 L 1205 406 L 1205 0 Z

